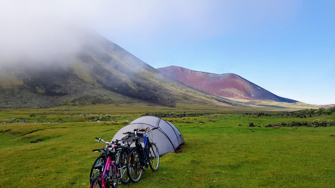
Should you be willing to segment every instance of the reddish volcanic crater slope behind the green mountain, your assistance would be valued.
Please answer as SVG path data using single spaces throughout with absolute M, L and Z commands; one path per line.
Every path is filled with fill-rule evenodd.
M 239 75 L 232 73 L 212 74 L 193 71 L 178 66 L 163 67 L 157 70 L 183 84 L 221 97 L 247 100 L 271 100 L 287 103 L 298 102 L 296 100 L 279 97 Z

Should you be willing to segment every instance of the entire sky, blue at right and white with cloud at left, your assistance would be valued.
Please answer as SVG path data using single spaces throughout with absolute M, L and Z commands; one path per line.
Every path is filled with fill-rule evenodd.
M 73 36 L 59 23 L 81 24 L 154 68 L 235 73 L 281 97 L 335 104 L 334 10 L 333 0 L 11 0 L 0 50 L 63 52 Z

